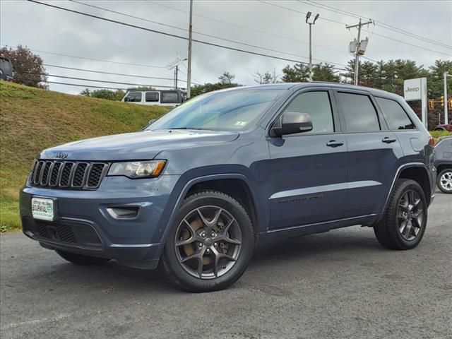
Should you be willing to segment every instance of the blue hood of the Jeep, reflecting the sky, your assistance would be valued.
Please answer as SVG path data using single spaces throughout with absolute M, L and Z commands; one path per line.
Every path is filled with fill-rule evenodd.
M 173 148 L 227 143 L 239 136 L 229 131 L 165 130 L 124 133 L 66 143 L 42 151 L 40 159 L 60 160 L 148 160 Z

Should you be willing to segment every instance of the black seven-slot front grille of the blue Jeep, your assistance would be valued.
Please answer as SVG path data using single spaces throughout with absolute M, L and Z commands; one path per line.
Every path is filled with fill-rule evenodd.
M 108 169 L 106 162 L 39 160 L 33 167 L 32 186 L 97 189 Z

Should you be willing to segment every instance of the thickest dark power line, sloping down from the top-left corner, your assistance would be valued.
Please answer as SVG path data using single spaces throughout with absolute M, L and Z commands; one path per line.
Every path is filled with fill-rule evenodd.
M 55 5 L 47 4 L 47 3 L 42 3 L 40 1 L 35 1 L 35 0 L 27 0 L 27 1 L 30 1 L 30 2 L 35 3 L 35 4 L 40 4 L 40 5 L 49 6 L 49 7 L 52 7 L 52 8 L 61 9 L 63 11 L 68 11 L 68 12 L 71 12 L 71 13 L 76 13 L 76 14 L 79 14 L 79 15 L 82 15 L 82 16 L 88 16 L 90 18 L 96 18 L 96 19 L 99 19 L 99 20 L 104 20 L 104 21 L 107 21 L 107 22 L 110 22 L 110 23 L 117 23 L 119 25 L 124 25 L 124 26 L 128 26 L 128 27 L 131 27 L 131 28 L 137 28 L 139 30 L 146 30 L 148 32 L 154 32 L 154 33 L 157 33 L 157 34 L 167 35 L 169 37 L 177 37 L 178 39 L 188 40 L 187 37 L 182 37 L 181 35 L 176 35 L 176 34 L 172 34 L 172 33 L 168 33 L 168 32 L 162 32 L 160 30 L 153 30 L 153 29 L 141 27 L 141 26 L 138 26 L 138 25 L 132 25 L 130 23 L 124 23 L 124 22 L 121 22 L 121 21 L 118 21 L 118 20 L 102 18 L 100 16 L 95 16 L 93 14 L 83 13 L 83 12 L 75 11 L 75 10 L 69 9 L 69 8 L 55 6 Z M 282 58 L 282 57 L 275 57 L 274 55 L 270 55 L 270 54 L 263 54 L 263 53 L 259 53 L 259 52 L 251 52 L 251 51 L 248 51 L 246 49 L 239 49 L 239 48 L 235 48 L 235 47 L 225 46 L 225 45 L 222 45 L 222 44 L 215 44 L 213 42 L 206 42 L 206 41 L 195 40 L 195 39 L 193 39 L 192 41 L 193 42 L 198 42 L 199 44 L 206 44 L 208 46 L 219 47 L 219 48 L 223 48 L 223 49 L 230 49 L 230 50 L 236 51 L 236 52 L 243 52 L 243 53 L 247 53 L 247 54 L 254 54 L 254 55 L 261 56 L 261 57 L 268 57 L 268 58 L 271 58 L 271 59 L 290 61 L 290 62 L 295 62 L 295 63 L 298 63 L 298 64 L 307 64 L 307 62 L 305 62 L 305 61 L 299 61 L 299 60 L 294 60 L 294 59 L 287 59 L 287 58 Z M 338 69 L 340 71 L 344 71 L 344 69 L 339 69 L 339 68 L 336 68 L 336 67 L 333 67 L 333 69 Z

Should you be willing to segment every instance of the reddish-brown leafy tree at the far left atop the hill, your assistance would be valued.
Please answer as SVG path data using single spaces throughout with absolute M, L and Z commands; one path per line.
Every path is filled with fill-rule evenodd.
M 42 59 L 39 55 L 33 54 L 28 47 L 22 47 L 20 44 L 16 49 L 2 47 L 0 56 L 11 60 L 14 82 L 32 87 L 48 88 L 45 85 L 47 75 L 42 66 Z

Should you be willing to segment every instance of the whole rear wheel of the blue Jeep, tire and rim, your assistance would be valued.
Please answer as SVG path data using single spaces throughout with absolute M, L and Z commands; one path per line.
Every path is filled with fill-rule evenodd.
M 387 249 L 414 249 L 427 226 L 427 199 L 420 184 L 398 179 L 383 219 L 374 226 L 376 239 Z

